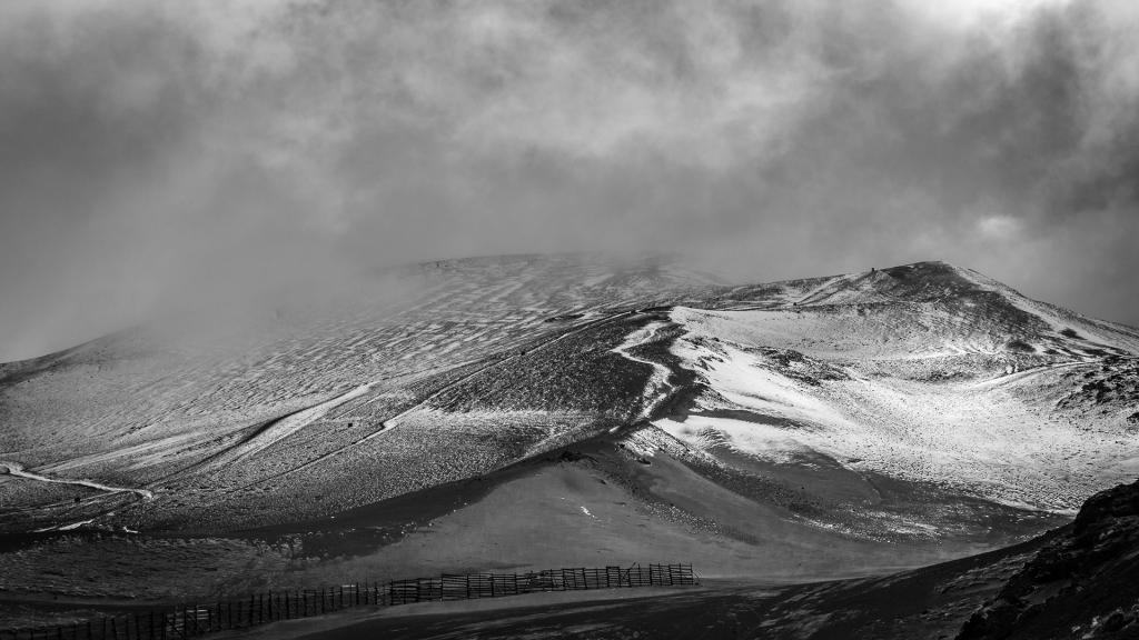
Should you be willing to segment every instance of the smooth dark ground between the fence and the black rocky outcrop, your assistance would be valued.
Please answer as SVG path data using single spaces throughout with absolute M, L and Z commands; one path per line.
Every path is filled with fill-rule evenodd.
M 888 577 L 794 586 L 705 581 L 697 589 L 662 590 L 645 597 L 599 592 L 589 601 L 557 605 L 507 599 L 474 612 L 418 605 L 363 621 L 345 618 L 343 626 L 334 621 L 300 623 L 253 637 L 949 639 L 1046 542 L 1036 540 Z

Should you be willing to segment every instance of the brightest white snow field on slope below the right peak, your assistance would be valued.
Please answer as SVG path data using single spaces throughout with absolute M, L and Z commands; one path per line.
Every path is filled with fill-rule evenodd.
M 712 389 L 696 409 L 744 410 L 755 419 L 694 411 L 685 422 L 657 420 L 655 426 L 698 450 L 723 445 L 772 462 L 811 452 L 859 459 L 859 469 L 1057 514 L 1123 482 L 1133 466 L 1133 453 L 1120 450 L 1117 433 L 1057 419 L 1052 403 L 1030 402 L 1019 388 L 1035 374 L 1015 374 L 1000 385 L 857 374 L 814 384 L 787 377 L 759 347 L 786 347 L 788 336 L 809 335 L 814 330 L 810 323 L 823 321 L 794 315 L 674 309 L 671 318 L 686 335 L 671 351 Z M 910 345 L 920 343 L 915 338 Z M 833 344 L 796 347 L 813 359 L 835 361 Z

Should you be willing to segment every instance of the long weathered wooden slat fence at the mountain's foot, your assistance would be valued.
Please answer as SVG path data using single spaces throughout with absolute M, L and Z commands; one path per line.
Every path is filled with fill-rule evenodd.
M 320 589 L 270 591 L 239 600 L 167 607 L 66 626 L 0 630 L 0 640 L 174 640 L 359 606 L 498 598 L 541 591 L 691 584 L 698 584 L 691 565 L 562 568 L 524 574 L 443 574 L 386 583 L 355 582 Z

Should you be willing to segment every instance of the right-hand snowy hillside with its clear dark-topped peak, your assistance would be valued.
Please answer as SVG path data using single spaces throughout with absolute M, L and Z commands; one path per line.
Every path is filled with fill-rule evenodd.
M 1134 329 L 943 263 L 816 282 L 675 309 L 671 352 L 704 391 L 656 425 L 705 450 L 825 456 L 1058 512 L 1139 474 Z M 1107 394 L 1079 401 L 1104 378 Z

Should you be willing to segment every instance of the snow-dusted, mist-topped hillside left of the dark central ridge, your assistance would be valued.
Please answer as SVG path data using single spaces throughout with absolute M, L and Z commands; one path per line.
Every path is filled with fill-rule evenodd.
M 484 394 L 465 389 L 518 383 L 509 372 L 526 362 L 581 352 L 612 320 L 708 286 L 667 262 L 575 255 L 444 261 L 387 278 L 400 295 L 377 286 L 374 298 L 270 318 L 220 344 L 142 327 L 0 366 L 0 463 L 155 497 L 132 510 L 124 502 L 137 492 L 0 475 L 0 509 L 11 514 L 0 530 L 98 526 L 112 511 L 131 528 L 248 525 L 485 473 L 560 442 L 625 395 L 543 405 L 539 419 L 528 410 L 540 389 L 515 384 L 516 400 L 478 408 L 469 401 Z M 622 329 L 608 330 L 621 340 Z M 588 367 L 579 377 L 597 372 Z M 565 394 L 543 384 L 551 399 Z M 441 418 L 436 404 L 462 408 Z

